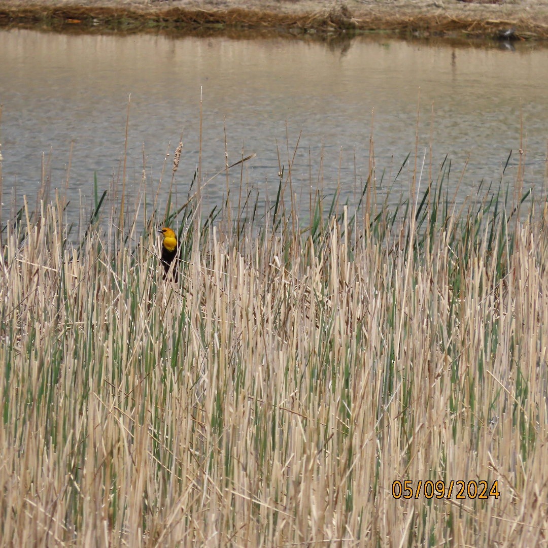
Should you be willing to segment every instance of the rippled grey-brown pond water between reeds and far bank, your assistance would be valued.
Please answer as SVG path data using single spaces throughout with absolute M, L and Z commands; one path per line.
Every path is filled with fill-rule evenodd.
M 429 162 L 432 142 L 433 170 L 449 155 L 455 187 L 467 165 L 459 199 L 475 192 L 481 179 L 498 184 L 511 150 L 505 180 L 515 178 L 521 126 L 526 186 L 540 191 L 544 181 L 548 49 L 540 47 L 512 51 L 378 38 L 328 47 L 281 38 L 12 30 L 0 31 L 0 57 L 4 202 L 36 196 L 42 153 L 51 156 L 53 186 L 64 186 L 72 144 L 68 194 L 89 206 L 94 172 L 100 189 L 121 177 L 129 95 L 129 186 L 141 183 L 144 150 L 147 189 L 156 191 L 170 143 L 167 190 L 182 133 L 176 190 L 184 201 L 198 162 L 201 90 L 204 178 L 225 165 L 226 128 L 230 163 L 242 150 L 256 154 L 243 178 L 261 196 L 275 196 L 278 152 L 287 173 L 301 135 L 293 167 L 298 196 L 307 203 L 319 181 L 324 193 L 340 185 L 352 200 L 367 178 L 372 128 L 377 180 L 384 170 L 390 186 L 414 154 L 418 112 L 419 163 L 425 151 Z M 409 169 L 395 194 L 408 192 Z M 240 176 L 233 169 L 229 184 L 238 187 Z M 224 175 L 210 182 L 207 205 L 220 203 L 225 190 Z M 164 190 L 160 196 L 165 201 Z

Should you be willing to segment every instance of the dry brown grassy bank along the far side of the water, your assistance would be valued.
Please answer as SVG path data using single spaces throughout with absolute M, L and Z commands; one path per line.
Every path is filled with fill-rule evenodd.
M 498 2 L 499 0 L 479 0 Z M 548 0 L 0 0 L 0 27 L 76 32 L 334 33 L 548 40 Z

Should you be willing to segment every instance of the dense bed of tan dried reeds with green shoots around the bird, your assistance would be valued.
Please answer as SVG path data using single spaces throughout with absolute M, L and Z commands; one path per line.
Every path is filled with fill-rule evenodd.
M 544 545 L 546 202 L 418 179 L 4 219 L 0 545 Z

